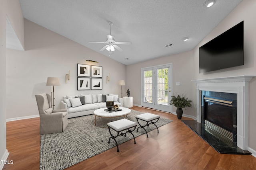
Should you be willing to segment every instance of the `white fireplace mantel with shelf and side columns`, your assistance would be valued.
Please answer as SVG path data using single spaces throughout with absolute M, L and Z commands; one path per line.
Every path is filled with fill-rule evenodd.
M 237 96 L 237 146 L 248 149 L 249 141 L 249 81 L 254 76 L 233 76 L 192 80 L 196 83 L 197 121 L 201 123 L 200 91 L 234 93 Z

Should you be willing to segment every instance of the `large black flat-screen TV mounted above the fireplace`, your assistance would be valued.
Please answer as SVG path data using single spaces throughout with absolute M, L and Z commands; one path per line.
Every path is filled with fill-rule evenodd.
M 199 73 L 244 65 L 244 21 L 199 48 Z

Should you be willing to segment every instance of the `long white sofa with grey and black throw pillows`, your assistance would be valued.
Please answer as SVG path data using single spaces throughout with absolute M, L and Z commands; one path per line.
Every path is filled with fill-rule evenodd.
M 118 98 L 117 94 L 77 94 L 62 98 L 61 109 L 68 109 L 68 118 L 93 114 L 94 110 L 106 107 L 106 101 L 123 106 L 123 99 Z

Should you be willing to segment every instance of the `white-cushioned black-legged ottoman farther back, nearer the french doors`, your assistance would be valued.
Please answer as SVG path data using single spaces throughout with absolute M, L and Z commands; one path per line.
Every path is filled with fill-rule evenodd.
M 146 129 L 144 128 L 145 126 L 149 126 L 150 124 L 154 124 L 156 126 L 155 123 L 159 120 L 159 118 L 160 118 L 159 115 L 155 115 L 155 114 L 152 114 L 152 113 L 143 113 L 143 114 L 140 114 L 140 115 L 136 115 L 136 119 L 138 121 L 138 124 L 140 125 L 140 127 L 138 127 L 138 129 L 143 128 L 146 131 Z M 145 121 L 147 124 L 143 126 L 143 125 L 140 124 L 139 120 L 141 121 L 141 123 L 142 123 L 142 121 Z M 148 122 L 150 122 L 150 123 L 148 123 Z M 156 128 L 157 128 L 157 132 L 159 133 L 157 126 L 156 126 Z M 137 132 L 138 132 L 138 129 L 137 129 Z M 146 134 L 147 134 L 147 137 L 148 137 L 147 131 L 146 131 Z

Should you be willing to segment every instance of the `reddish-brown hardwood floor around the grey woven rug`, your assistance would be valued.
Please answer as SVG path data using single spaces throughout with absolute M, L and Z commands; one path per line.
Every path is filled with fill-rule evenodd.
M 84 160 L 68 170 L 255 170 L 256 158 L 249 155 L 219 154 L 176 115 L 161 111 L 132 107 L 131 109 L 150 112 L 173 122 L 146 135 L 102 152 Z M 189 119 L 182 117 L 182 119 Z M 4 165 L 3 170 L 39 169 L 40 134 L 39 118 L 7 122 L 8 160 L 13 164 Z

